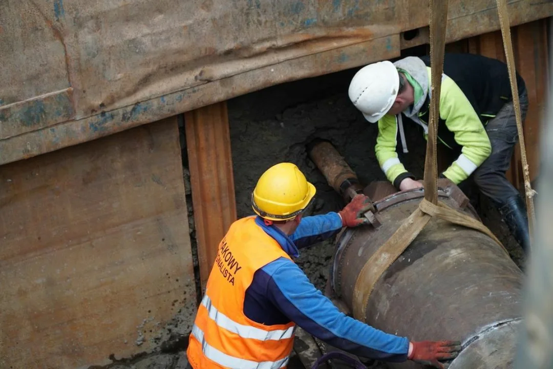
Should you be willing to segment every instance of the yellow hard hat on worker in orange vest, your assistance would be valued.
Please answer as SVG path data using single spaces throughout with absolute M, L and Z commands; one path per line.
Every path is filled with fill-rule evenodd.
M 268 220 L 290 220 L 310 204 L 315 186 L 292 163 L 273 165 L 263 173 L 252 192 L 255 214 Z

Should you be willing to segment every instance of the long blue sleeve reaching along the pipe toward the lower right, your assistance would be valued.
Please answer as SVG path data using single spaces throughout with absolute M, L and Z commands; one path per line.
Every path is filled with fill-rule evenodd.
M 387 334 L 343 314 L 294 262 L 280 258 L 262 270 L 271 277 L 267 297 L 309 334 L 354 355 L 382 361 L 407 360 L 406 337 Z

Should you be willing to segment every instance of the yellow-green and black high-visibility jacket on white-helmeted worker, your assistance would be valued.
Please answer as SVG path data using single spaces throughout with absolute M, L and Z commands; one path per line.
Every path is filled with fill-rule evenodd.
M 427 65 L 431 85 L 430 58 L 421 58 Z M 499 60 L 472 54 L 446 54 L 440 95 L 438 142 L 459 156 L 443 175 L 458 184 L 468 178 L 492 152 L 486 123 L 503 105 L 512 100 L 507 66 Z M 517 75 L 519 93 L 524 81 Z M 430 95 L 417 116 L 421 124 L 429 122 Z M 411 119 L 403 117 L 403 121 Z M 425 138 L 427 134 L 424 133 Z M 398 123 L 396 116 L 385 115 L 378 121 L 375 146 L 380 168 L 397 188 L 405 178 L 414 178 L 396 152 Z

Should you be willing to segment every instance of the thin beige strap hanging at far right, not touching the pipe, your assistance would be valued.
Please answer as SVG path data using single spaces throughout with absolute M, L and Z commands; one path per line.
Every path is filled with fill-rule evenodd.
M 511 29 L 509 23 L 509 12 L 507 11 L 506 0 L 497 1 L 497 13 L 499 15 L 499 24 L 501 25 L 501 34 L 503 35 L 503 46 L 505 48 L 505 57 L 507 58 L 507 68 L 509 70 L 509 81 L 511 84 L 511 93 L 513 96 L 513 105 L 515 108 L 515 117 L 517 118 L 517 131 L 520 144 L 520 160 L 522 161 L 522 171 L 524 176 L 524 192 L 526 194 L 526 212 L 528 212 L 528 228 L 530 230 L 530 245 L 533 243 L 532 231 L 534 230 L 534 191 L 530 185 L 530 170 L 528 160 L 526 159 L 526 145 L 524 143 L 524 132 L 522 129 L 522 115 L 520 113 L 520 100 L 518 95 L 517 78 L 515 76 L 515 62 L 513 53 L 513 44 L 511 41 Z

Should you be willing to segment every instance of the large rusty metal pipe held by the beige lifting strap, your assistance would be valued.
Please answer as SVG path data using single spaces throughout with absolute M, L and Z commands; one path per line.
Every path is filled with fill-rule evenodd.
M 351 311 L 364 264 L 424 196 L 422 189 L 397 193 L 383 182 L 365 191 L 375 200 L 381 225 L 343 231 L 331 273 L 333 292 Z M 452 183 L 441 183 L 439 200 L 478 218 Z M 502 247 L 484 233 L 432 219 L 379 279 L 366 316 L 355 318 L 411 340 L 461 340 L 463 351 L 450 369 L 512 368 L 522 277 Z M 418 367 L 412 362 L 390 366 Z

